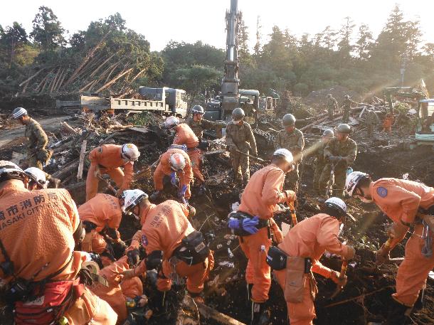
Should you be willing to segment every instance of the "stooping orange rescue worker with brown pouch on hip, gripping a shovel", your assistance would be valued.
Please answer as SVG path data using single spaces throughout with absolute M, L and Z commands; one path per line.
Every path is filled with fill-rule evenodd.
M 340 279 L 339 272 L 330 270 L 319 262 L 326 250 L 342 256 L 344 260 L 354 257 L 354 248 L 339 241 L 339 228 L 345 219 L 344 201 L 329 198 L 324 202 L 321 213 L 297 223 L 277 248 L 270 248 L 267 258 L 271 261 L 270 265 L 282 256 L 282 265 L 272 266 L 277 282 L 285 292 L 291 325 L 313 324 L 312 320 L 316 316 L 314 298 L 317 282 L 312 272 L 332 279 L 338 286 L 346 284 L 346 277 Z

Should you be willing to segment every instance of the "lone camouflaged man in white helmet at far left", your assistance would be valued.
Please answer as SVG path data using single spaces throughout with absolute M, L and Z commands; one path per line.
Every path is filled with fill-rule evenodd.
M 12 117 L 26 126 L 24 135 L 26 136 L 26 151 L 27 151 L 27 164 L 28 167 L 37 167 L 43 170 L 43 165 L 51 158 L 53 152 L 46 148 L 48 144 L 48 137 L 46 132 L 43 131 L 41 124 L 28 116 L 27 111 L 23 107 L 17 107 L 12 112 Z M 57 187 L 60 183 L 59 179 L 54 179 L 51 175 L 46 174 L 46 179 Z

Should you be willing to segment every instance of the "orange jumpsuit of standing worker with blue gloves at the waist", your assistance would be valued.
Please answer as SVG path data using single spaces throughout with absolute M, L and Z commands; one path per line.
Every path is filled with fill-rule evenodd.
M 283 203 L 287 199 L 285 192 L 282 192 L 284 181 L 285 173 L 275 164 L 256 171 L 245 186 L 238 211 L 272 220 L 277 203 Z M 277 228 L 274 220 L 272 224 Z M 253 284 L 252 300 L 259 303 L 268 300 L 271 285 L 270 266 L 265 262 L 271 245 L 268 231 L 265 227 L 258 233 L 240 237 L 240 246 L 248 258 L 245 279 L 248 284 Z

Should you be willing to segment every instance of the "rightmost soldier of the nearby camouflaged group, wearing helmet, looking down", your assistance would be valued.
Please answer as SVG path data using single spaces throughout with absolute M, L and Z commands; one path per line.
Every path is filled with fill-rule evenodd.
M 330 174 L 334 169 L 333 196 L 342 198 L 346 170 L 356 160 L 357 144 L 349 138 L 351 127 L 348 124 L 339 124 L 336 133 L 337 136 L 324 148 L 324 159 L 327 163 L 319 177 L 319 191 L 321 194 L 327 193 L 327 182 L 332 181 Z

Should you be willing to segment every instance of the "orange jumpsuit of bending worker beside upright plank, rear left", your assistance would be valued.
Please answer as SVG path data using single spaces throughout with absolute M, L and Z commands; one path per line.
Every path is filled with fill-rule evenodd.
M 134 163 L 132 161 L 125 163 L 121 156 L 121 149 L 122 146 L 118 146 L 117 144 L 103 144 L 90 151 L 90 167 L 86 179 L 86 201 L 93 198 L 98 191 L 100 180 L 95 177 L 97 166 L 100 167 L 101 174 L 110 175 L 121 191 L 129 188 L 129 183 L 131 183 L 133 176 Z M 123 167 L 124 171 L 120 167 Z

